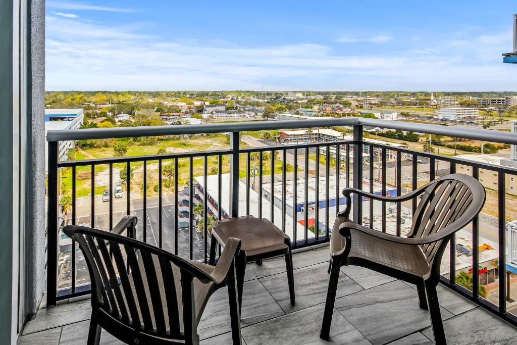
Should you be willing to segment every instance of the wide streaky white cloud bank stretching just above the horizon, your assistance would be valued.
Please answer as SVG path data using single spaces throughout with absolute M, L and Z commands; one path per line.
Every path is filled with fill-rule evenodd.
M 265 89 L 497 90 L 513 89 L 517 79 L 517 70 L 504 66 L 500 54 L 481 47 L 467 55 L 464 47 L 448 43 L 439 51 L 431 46 L 385 48 L 372 55 L 337 53 L 315 43 L 244 47 L 211 44 L 209 39 L 163 40 L 142 34 L 146 23 L 107 26 L 50 18 L 49 90 L 260 89 L 261 85 Z

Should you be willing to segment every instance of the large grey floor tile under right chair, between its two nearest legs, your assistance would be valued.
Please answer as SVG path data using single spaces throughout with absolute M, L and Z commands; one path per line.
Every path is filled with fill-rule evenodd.
M 335 308 L 374 344 L 386 343 L 431 325 L 418 307 L 416 290 L 400 280 L 336 299 Z M 442 318 L 452 316 L 443 309 Z

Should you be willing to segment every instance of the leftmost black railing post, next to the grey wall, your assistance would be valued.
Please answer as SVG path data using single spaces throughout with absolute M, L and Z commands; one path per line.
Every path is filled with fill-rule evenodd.
M 57 297 L 57 141 L 49 141 L 47 208 L 47 306 Z

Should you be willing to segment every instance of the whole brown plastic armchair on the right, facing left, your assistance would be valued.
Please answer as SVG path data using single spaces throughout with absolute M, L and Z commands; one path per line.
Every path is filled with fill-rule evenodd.
M 422 195 L 411 231 L 399 237 L 360 226 L 349 219 L 351 194 L 385 202 L 402 202 Z M 328 340 L 340 267 L 357 265 L 416 284 L 420 308 L 428 310 L 436 343 L 446 343 L 436 286 L 440 262 L 449 239 L 481 211 L 485 190 L 473 177 L 450 174 L 404 196 L 383 197 L 345 188 L 346 207 L 336 219 L 330 238 L 330 279 L 320 337 Z M 451 248 L 454 250 L 454 248 Z

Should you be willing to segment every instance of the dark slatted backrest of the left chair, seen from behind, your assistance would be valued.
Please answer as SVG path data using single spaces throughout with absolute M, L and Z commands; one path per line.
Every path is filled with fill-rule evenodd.
M 63 231 L 79 243 L 84 254 L 92 279 L 93 308 L 138 332 L 185 339 L 180 329 L 181 287 L 176 283 L 183 273 L 176 264 L 184 259 L 106 231 L 79 226 Z

